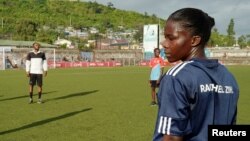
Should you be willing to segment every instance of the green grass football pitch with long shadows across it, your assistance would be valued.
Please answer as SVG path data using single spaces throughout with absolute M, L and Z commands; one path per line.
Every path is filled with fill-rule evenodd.
M 240 86 L 238 123 L 249 124 L 250 66 L 229 69 Z M 0 141 L 150 141 L 157 107 L 148 77 L 147 67 L 51 69 L 45 103 L 28 104 L 25 71 L 0 71 Z

